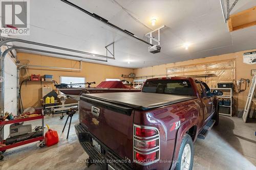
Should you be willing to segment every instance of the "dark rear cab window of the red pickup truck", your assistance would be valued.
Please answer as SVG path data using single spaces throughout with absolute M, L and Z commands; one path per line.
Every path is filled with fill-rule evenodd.
M 142 92 L 195 95 L 187 80 L 151 80 L 144 83 Z

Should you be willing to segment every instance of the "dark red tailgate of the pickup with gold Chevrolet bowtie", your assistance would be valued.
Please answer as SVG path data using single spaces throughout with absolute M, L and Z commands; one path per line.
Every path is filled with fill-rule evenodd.
M 80 96 L 80 123 L 96 141 L 122 157 L 133 160 L 134 109 Z M 95 141 L 95 140 L 94 140 Z M 104 152 L 101 147 L 101 154 Z

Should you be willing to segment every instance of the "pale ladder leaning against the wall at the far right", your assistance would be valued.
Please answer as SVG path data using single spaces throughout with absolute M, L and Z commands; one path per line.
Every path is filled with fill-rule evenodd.
M 247 119 L 247 116 L 248 116 L 248 113 L 249 113 L 249 110 L 250 110 L 252 99 L 254 98 L 255 86 L 256 86 L 256 75 L 253 76 L 253 78 L 252 78 L 249 94 L 247 95 L 247 100 L 246 100 L 246 104 L 245 104 L 244 112 L 243 112 L 244 123 L 246 123 L 246 119 Z

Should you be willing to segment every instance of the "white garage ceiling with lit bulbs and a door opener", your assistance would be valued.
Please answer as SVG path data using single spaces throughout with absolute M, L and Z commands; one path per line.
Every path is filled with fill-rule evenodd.
M 216 0 L 203 2 L 201 0 L 71 0 L 70 2 L 108 19 L 114 25 L 144 40 L 147 40 L 145 33 L 165 25 L 166 27 L 161 30 L 161 53 L 148 53 L 147 44 L 118 32 L 61 1 L 30 1 L 30 36 L 12 37 L 101 55 L 106 54 L 104 46 L 115 41 L 116 60 L 109 60 L 108 63 L 84 61 L 130 68 L 256 48 L 256 26 L 229 33 L 228 26 L 223 20 L 220 2 Z M 231 3 L 233 1 L 230 0 Z M 253 6 L 256 6 L 254 0 L 238 1 L 231 14 Z M 157 17 L 154 27 L 151 26 L 152 16 Z M 183 46 L 186 42 L 190 43 L 188 50 Z M 14 45 L 35 47 L 18 42 L 14 42 Z

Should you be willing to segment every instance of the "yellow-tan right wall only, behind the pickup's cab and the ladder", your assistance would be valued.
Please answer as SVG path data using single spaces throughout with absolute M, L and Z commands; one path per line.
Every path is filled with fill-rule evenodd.
M 250 51 L 255 51 L 255 50 L 250 50 Z M 230 53 L 230 54 L 200 58 L 195 60 L 187 60 L 187 61 L 176 62 L 176 63 L 168 63 L 168 64 L 156 65 L 151 67 L 145 67 L 145 68 L 138 68 L 138 69 L 134 69 L 134 72 L 136 74 L 136 77 L 151 76 L 151 75 L 154 75 L 154 76 L 160 75 L 161 77 L 164 77 L 164 75 L 166 75 L 166 68 L 184 66 L 184 65 L 190 65 L 190 64 L 216 62 L 216 61 L 228 60 L 228 59 L 236 59 L 236 80 L 240 80 L 241 78 L 251 80 L 252 79 L 251 69 L 256 69 L 256 64 L 250 65 L 250 64 L 243 63 L 243 53 L 250 52 L 250 51 Z M 151 77 L 148 77 L 148 78 L 151 78 Z M 236 94 L 235 96 L 236 110 L 241 111 L 242 109 L 244 109 L 248 91 L 249 91 L 249 88 L 247 87 L 246 91 Z

